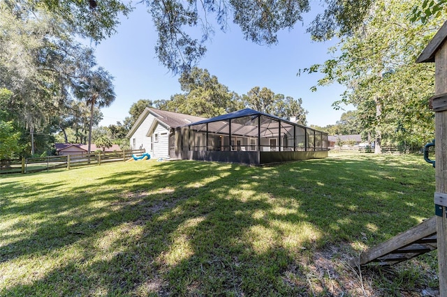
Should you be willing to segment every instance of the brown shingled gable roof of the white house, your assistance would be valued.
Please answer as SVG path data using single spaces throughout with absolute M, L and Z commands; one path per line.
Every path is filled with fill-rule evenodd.
M 130 137 L 135 133 L 135 130 L 140 127 L 143 121 L 149 114 L 154 116 L 155 120 L 164 125 L 166 128 L 177 128 L 189 123 L 197 121 L 203 121 L 206 118 L 201 116 L 190 116 L 189 114 L 179 114 L 178 112 L 167 112 L 166 110 L 155 109 L 152 107 L 146 107 L 145 110 L 138 116 L 138 119 L 133 124 L 131 130 L 127 133 L 126 137 Z

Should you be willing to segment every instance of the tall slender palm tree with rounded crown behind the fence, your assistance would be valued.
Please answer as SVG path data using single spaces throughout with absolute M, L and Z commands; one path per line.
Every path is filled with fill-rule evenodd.
M 90 71 L 80 79 L 80 83 L 75 86 L 76 96 L 87 102 L 90 107 L 89 123 L 89 146 L 88 153 L 91 153 L 91 127 L 93 126 L 94 107 L 108 107 L 115 100 L 115 91 L 112 84 L 113 77 L 104 68 Z

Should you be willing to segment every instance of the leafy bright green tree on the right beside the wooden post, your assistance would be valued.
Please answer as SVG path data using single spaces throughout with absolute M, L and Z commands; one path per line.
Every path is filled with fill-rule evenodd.
M 338 82 L 348 88 L 334 106 L 354 105 L 358 130 L 375 139 L 376 148 L 382 138 L 422 146 L 434 135 L 434 116 L 427 104 L 434 93 L 434 66 L 415 61 L 444 20 L 410 22 L 406 16 L 417 4 L 374 1 L 364 24 L 331 49 L 335 58 L 305 69 L 325 75 L 319 85 Z

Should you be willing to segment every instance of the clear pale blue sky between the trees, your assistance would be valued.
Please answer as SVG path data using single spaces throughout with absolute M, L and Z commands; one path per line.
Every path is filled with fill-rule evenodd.
M 110 107 L 101 109 L 100 125 L 123 121 L 129 116 L 131 105 L 140 99 L 169 99 L 175 93 L 182 93 L 178 76 L 155 57 L 156 32 L 149 13 L 142 4 L 136 6 L 129 18 L 122 17 L 114 36 L 96 45 L 98 65 L 115 77 L 117 95 Z M 217 76 L 230 91 L 242 95 L 254 86 L 265 86 L 274 93 L 302 98 L 302 106 L 309 112 L 308 125 L 325 126 L 339 120 L 343 111 L 336 111 L 331 105 L 339 100 L 344 87 L 335 84 L 312 92 L 309 89 L 321 75 L 296 75 L 300 68 L 329 59 L 328 47 L 335 45 L 335 40 L 312 42 L 301 23 L 291 31 L 281 31 L 279 43 L 270 47 L 244 40 L 235 24 L 230 24 L 226 33 L 219 28 L 215 31 L 198 67 Z M 353 107 L 346 107 L 349 109 Z

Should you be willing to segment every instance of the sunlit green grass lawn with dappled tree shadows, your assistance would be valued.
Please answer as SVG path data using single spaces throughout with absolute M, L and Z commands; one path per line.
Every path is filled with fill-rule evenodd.
M 0 177 L 0 296 L 420 296 L 436 252 L 347 264 L 434 215 L 422 155 L 119 162 Z

